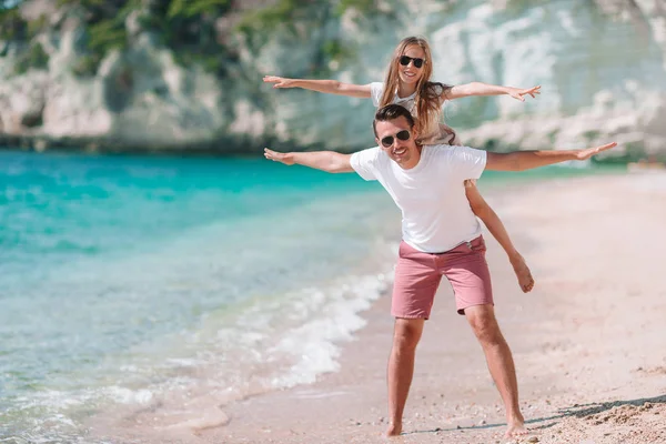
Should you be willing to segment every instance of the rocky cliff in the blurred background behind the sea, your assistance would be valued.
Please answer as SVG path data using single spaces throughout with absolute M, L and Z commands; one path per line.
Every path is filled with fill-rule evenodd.
M 397 41 L 422 34 L 433 47 L 436 80 L 542 84 L 542 97 L 526 103 L 506 97 L 450 103 L 446 119 L 471 145 L 618 140 L 634 157 L 666 152 L 660 0 L 219 1 L 215 13 L 190 10 L 182 20 L 159 10 L 169 2 L 115 3 L 97 11 L 117 14 L 102 26 L 83 1 L 23 1 L 13 22 L 28 23 L 22 39 L 3 19 L 4 144 L 222 153 L 266 144 L 367 148 L 370 101 L 273 90 L 261 78 L 379 81 Z M 193 42 L 165 38 L 164 23 Z M 109 43 L 114 36 L 120 44 Z

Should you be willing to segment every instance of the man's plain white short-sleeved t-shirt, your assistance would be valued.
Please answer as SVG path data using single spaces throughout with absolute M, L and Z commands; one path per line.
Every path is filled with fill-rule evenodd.
M 463 182 L 478 179 L 486 152 L 468 147 L 423 145 L 416 167 L 403 170 L 381 148 L 352 154 L 363 179 L 380 181 L 402 211 L 403 241 L 425 253 L 443 253 L 481 234 Z

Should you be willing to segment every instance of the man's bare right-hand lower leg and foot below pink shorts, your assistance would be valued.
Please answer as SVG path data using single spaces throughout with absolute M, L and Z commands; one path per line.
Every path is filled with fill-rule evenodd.
M 507 437 L 527 434 L 525 418 L 518 405 L 518 383 L 511 349 L 500 331 L 493 305 L 475 305 L 465 316 L 485 353 L 491 376 L 500 391 L 506 411 Z

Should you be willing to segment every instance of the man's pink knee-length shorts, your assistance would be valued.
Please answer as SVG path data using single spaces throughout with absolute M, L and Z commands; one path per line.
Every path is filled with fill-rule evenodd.
M 453 286 L 458 314 L 473 305 L 493 304 L 485 242 L 478 236 L 444 253 L 423 253 L 400 244 L 391 314 L 428 319 L 442 275 Z

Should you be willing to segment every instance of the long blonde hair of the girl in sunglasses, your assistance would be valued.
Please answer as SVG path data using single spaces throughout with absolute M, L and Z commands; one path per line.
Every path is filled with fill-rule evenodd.
M 393 52 L 393 59 L 389 64 L 386 79 L 384 81 L 384 93 L 380 100 L 380 107 L 385 107 L 393 103 L 395 92 L 400 84 L 400 58 L 404 56 L 407 48 L 418 47 L 425 54 L 423 67 L 421 68 L 421 78 L 416 83 L 416 95 L 414 97 L 414 118 L 416 120 L 416 131 L 418 139 L 432 135 L 435 131 L 440 131 L 440 120 L 442 115 L 442 95 L 446 95 L 452 88 L 448 84 L 440 82 L 431 82 L 430 78 L 433 74 L 433 63 L 430 44 L 422 37 L 407 37 L 401 40 Z

